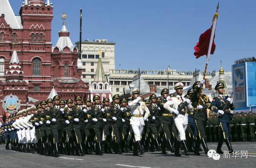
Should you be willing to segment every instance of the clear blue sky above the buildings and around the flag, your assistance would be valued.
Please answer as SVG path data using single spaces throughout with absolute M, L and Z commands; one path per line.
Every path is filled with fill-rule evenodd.
M 9 0 L 19 14 L 22 0 Z M 194 46 L 210 28 L 218 0 L 50 0 L 53 3 L 52 44 L 63 20 L 73 43 L 79 41 L 80 8 L 85 39 L 116 42 L 119 69 L 204 70 L 206 56 L 195 59 Z M 235 60 L 256 56 L 256 1 L 222 0 L 215 32 L 216 49 L 207 70 L 231 70 Z

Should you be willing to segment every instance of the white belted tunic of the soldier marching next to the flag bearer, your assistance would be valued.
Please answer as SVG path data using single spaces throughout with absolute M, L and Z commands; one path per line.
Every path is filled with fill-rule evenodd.
M 168 110 L 171 113 L 173 112 L 173 110 L 178 110 L 178 105 L 180 103 L 182 103 L 182 99 L 183 99 L 183 101 L 186 101 L 186 98 L 182 97 L 182 99 L 181 99 L 180 97 L 182 97 L 182 96 L 177 95 L 176 97 L 170 98 L 169 101 L 167 101 L 163 105 L 163 108 L 165 108 L 166 110 Z M 173 108 L 171 107 L 171 105 Z M 189 110 L 192 112 L 194 110 L 194 108 L 193 108 L 192 104 L 190 103 L 188 106 L 185 106 L 185 110 Z M 177 124 L 177 123 L 182 123 L 183 125 L 188 124 L 188 114 L 187 113 L 185 115 L 179 113 L 173 119 L 174 119 L 175 124 Z

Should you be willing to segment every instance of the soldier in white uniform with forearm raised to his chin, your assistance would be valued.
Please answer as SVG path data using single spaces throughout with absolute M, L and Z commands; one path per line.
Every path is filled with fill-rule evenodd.
M 130 125 L 134 131 L 134 136 L 136 143 L 134 144 L 134 155 L 138 155 L 137 148 L 140 150 L 140 154 L 144 154 L 142 143 L 140 141 L 140 136 L 143 132 L 143 127 L 145 125 L 144 121 L 147 120 L 148 115 L 150 114 L 148 107 L 146 107 L 146 104 L 144 101 L 140 102 L 139 97 L 139 89 L 135 88 L 132 90 L 132 94 L 134 96 L 134 101 L 129 101 L 128 106 L 130 106 L 131 109 L 131 119 L 130 119 Z M 143 118 L 143 114 L 144 118 Z

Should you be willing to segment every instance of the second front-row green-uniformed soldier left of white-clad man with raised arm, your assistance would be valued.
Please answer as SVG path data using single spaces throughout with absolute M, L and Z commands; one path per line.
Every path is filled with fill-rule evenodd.
M 105 109 L 100 106 L 99 96 L 93 96 L 93 101 L 95 102 L 95 106 L 91 107 L 88 111 L 88 118 L 93 121 L 93 128 L 96 136 L 96 154 L 103 155 L 102 152 L 102 136 L 103 136 L 103 129 L 105 124 L 105 119 L 103 120 L 103 115 L 105 113 Z M 96 117 L 98 114 L 101 113 L 98 119 Z

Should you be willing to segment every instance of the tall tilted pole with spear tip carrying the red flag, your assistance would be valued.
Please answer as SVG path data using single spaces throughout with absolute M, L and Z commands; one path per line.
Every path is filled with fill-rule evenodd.
M 213 38 L 214 38 L 216 24 L 217 24 L 217 18 L 218 18 L 218 7 L 219 7 L 219 3 L 218 3 L 218 6 L 217 6 L 216 13 L 214 14 L 213 19 L 212 19 L 212 22 L 213 22 L 212 23 L 212 34 L 211 34 L 211 38 L 210 38 L 209 49 L 208 49 L 208 53 L 207 53 L 207 60 L 206 60 L 206 65 L 205 65 L 205 69 L 204 69 L 204 78 L 205 78 L 205 74 L 206 74 L 206 70 L 207 70 L 207 65 L 208 65 L 210 54 L 211 54 L 211 50 L 212 50 L 212 41 L 213 41 Z M 203 78 L 203 80 L 204 80 L 204 78 Z M 201 96 L 202 96 L 203 86 L 204 86 L 204 84 L 202 84 L 202 86 L 201 86 L 200 96 L 199 96 L 199 100 L 198 100 L 198 106 L 200 105 L 200 100 L 201 100 Z

